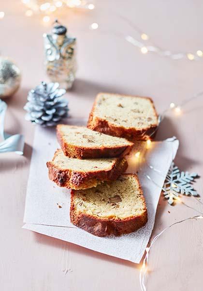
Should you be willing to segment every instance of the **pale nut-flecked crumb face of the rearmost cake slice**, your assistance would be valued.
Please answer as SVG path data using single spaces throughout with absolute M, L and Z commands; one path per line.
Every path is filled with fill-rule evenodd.
M 116 126 L 144 129 L 158 124 L 158 117 L 150 98 L 100 93 L 94 116 Z

